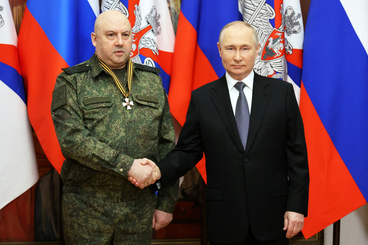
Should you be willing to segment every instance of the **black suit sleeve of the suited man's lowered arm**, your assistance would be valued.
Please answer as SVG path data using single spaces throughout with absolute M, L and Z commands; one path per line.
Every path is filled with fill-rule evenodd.
M 287 139 L 286 158 L 289 177 L 289 195 L 286 211 L 308 215 L 309 170 L 304 126 L 294 89 L 289 84 L 287 91 Z

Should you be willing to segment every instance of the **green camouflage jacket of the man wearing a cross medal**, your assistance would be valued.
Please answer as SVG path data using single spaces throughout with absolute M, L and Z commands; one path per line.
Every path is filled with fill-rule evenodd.
M 132 185 L 127 174 L 134 159 L 163 159 L 175 146 L 174 127 L 160 76 L 152 67 L 134 66 L 130 110 L 95 55 L 57 76 L 51 114 L 66 158 L 64 192 L 112 202 L 156 200 L 149 188 Z M 177 197 L 175 181 L 158 192 L 156 209 L 172 213 Z

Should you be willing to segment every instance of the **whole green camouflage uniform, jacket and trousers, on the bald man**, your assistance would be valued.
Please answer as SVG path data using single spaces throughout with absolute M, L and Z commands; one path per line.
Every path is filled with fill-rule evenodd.
M 177 181 L 156 196 L 127 180 L 134 159 L 157 162 L 174 148 L 161 79 L 153 68 L 134 66 L 130 110 L 95 55 L 57 77 L 51 112 L 66 158 L 61 179 L 68 244 L 150 244 L 154 209 L 173 212 Z

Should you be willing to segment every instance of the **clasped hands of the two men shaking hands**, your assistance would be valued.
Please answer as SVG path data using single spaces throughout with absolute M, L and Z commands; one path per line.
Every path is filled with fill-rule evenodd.
M 161 178 L 161 172 L 156 163 L 147 158 L 134 159 L 128 172 L 128 181 L 143 189 Z

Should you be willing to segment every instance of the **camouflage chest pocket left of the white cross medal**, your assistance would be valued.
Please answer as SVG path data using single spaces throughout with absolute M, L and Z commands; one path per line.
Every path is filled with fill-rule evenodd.
M 111 96 L 85 96 L 81 101 L 85 119 L 101 119 L 107 116 L 112 110 L 113 104 Z

